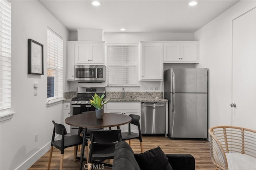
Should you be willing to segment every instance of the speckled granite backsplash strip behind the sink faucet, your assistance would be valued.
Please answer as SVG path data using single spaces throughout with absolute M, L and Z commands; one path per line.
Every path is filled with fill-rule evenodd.
M 122 92 L 106 92 L 106 98 L 122 98 Z M 163 98 L 163 92 L 124 92 L 124 98 Z

